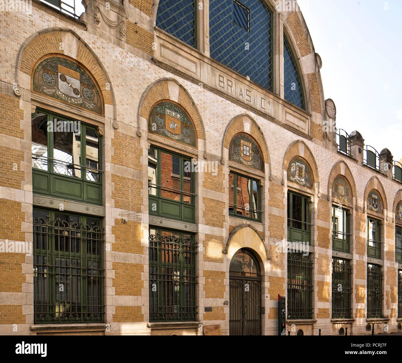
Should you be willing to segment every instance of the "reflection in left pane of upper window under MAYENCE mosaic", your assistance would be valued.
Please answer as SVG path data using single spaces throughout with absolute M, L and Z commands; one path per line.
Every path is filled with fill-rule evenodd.
M 47 170 L 47 115 L 38 112 L 31 120 L 32 167 Z

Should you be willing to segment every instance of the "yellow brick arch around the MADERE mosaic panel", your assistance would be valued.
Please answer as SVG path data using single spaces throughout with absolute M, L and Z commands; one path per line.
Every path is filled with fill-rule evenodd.
M 249 131 L 246 130 L 246 128 L 244 127 L 246 123 L 250 124 Z M 222 162 L 224 160 L 224 148 L 229 149 L 232 138 L 239 132 L 249 134 L 256 141 L 257 145 L 259 146 L 263 154 L 264 164 L 269 165 L 269 173 L 271 173 L 271 159 L 269 157 L 267 141 L 265 140 L 264 134 L 261 131 L 260 126 L 258 126 L 256 121 L 246 113 L 242 113 L 241 115 L 235 116 L 234 118 L 232 118 L 232 120 L 230 120 L 229 124 L 226 126 L 224 137 L 222 139 Z

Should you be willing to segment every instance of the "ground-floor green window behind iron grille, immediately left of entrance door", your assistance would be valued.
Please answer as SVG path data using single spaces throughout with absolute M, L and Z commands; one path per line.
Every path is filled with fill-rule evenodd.
M 150 321 L 195 321 L 195 236 L 171 229 L 149 231 Z

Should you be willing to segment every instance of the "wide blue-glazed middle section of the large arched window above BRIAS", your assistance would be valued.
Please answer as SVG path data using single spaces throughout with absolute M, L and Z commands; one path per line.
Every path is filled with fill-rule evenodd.
M 272 89 L 272 12 L 263 0 L 210 0 L 211 58 Z

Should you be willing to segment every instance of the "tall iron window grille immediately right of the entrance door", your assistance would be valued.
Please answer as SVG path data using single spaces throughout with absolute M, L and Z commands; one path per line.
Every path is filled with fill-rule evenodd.
M 287 318 L 312 319 L 313 260 L 301 254 L 287 256 Z

